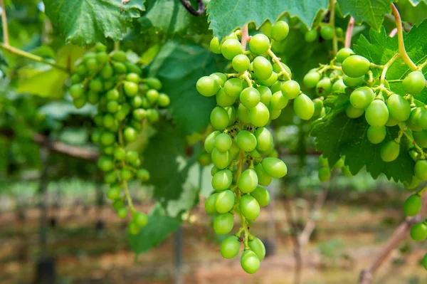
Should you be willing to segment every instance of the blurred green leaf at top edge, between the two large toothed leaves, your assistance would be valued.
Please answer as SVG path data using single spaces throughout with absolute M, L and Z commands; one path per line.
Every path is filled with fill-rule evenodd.
M 176 33 L 201 34 L 208 31 L 206 14 L 191 15 L 179 1 L 147 0 L 145 4 L 147 13 L 138 20 L 143 31 L 152 28 L 154 32 L 163 32 L 167 36 Z

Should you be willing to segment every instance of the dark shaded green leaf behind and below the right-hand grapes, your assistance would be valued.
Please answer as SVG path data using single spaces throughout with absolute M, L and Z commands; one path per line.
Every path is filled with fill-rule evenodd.
M 407 140 L 402 138 L 399 157 L 393 162 L 383 162 L 380 157 L 381 146 L 397 137 L 399 127 L 387 127 L 386 139 L 380 144 L 371 144 L 367 139 L 369 125 L 364 116 L 351 119 L 344 112 L 349 105 L 348 93 L 325 100 L 325 105 L 333 107 L 333 111 L 313 123 L 310 136 L 316 138 L 316 149 L 323 151 L 331 167 L 344 155 L 352 174 L 366 166 L 374 179 L 384 173 L 387 179 L 395 182 L 411 182 L 415 163 L 408 154 Z

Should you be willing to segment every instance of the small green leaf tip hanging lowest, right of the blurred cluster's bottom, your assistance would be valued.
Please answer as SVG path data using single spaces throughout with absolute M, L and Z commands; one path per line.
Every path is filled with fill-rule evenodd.
M 130 246 L 135 253 L 143 253 L 162 243 L 169 234 L 179 228 L 180 219 L 166 216 L 157 204 L 148 216 L 148 223 L 137 235 L 129 235 Z

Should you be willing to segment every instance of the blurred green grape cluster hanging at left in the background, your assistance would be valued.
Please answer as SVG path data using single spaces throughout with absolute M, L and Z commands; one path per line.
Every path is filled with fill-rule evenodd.
M 125 52 L 108 54 L 106 46 L 97 43 L 76 66 L 69 90 L 75 107 L 83 107 L 86 102 L 97 105 L 97 114 L 93 117 L 97 128 L 92 140 L 99 144 L 102 152 L 98 167 L 105 172 L 105 183 L 110 185 L 107 197 L 113 201 L 117 216 L 125 218 L 130 209 L 132 234 L 145 226 L 147 215 L 133 207 L 127 182 L 135 177 L 147 182 L 149 172 L 141 167 L 138 152 L 127 150 L 126 146 L 137 140 L 145 122 L 159 120 L 156 107 L 169 105 L 169 97 L 159 93 L 162 83 L 157 78 L 141 78 L 141 75 L 141 68 L 127 61 Z

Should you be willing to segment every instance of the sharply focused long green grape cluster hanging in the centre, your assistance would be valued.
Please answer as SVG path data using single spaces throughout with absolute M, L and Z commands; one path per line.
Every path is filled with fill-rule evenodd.
M 285 39 L 288 32 L 288 23 L 278 21 L 271 27 L 270 38 L 263 33 L 248 38 L 250 51 L 242 46 L 241 31 L 221 43 L 214 38 L 211 51 L 231 60 L 233 71 L 204 76 L 196 84 L 201 95 L 216 95 L 217 103 L 210 117 L 215 130 L 204 141 L 214 164 L 215 189 L 206 199 L 205 209 L 216 214 L 213 226 L 219 235 L 232 231 L 235 214 L 241 219 L 242 227 L 221 244 L 221 255 L 237 256 L 243 242 L 241 266 L 247 273 L 255 273 L 265 257 L 263 243 L 249 233 L 260 206 L 270 202 L 263 186 L 284 177 L 288 170 L 277 158 L 273 135 L 266 125 L 279 117 L 289 100 L 294 100 L 295 113 L 303 120 L 310 120 L 315 112 L 312 100 L 290 79 L 288 66 L 271 51 L 271 44 Z

